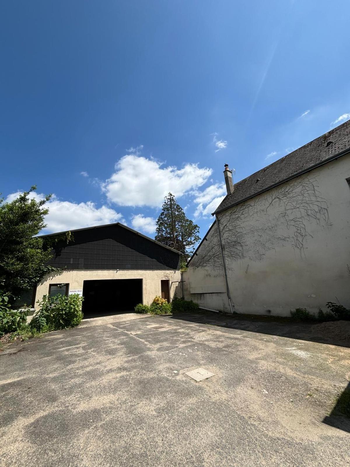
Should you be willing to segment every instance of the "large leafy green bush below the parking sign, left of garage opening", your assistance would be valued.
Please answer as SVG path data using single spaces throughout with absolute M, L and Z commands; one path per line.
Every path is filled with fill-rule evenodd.
M 39 303 L 39 310 L 35 312 L 30 322 L 30 327 L 40 333 L 75 327 L 83 319 L 82 302 L 83 297 L 77 294 L 68 297 L 44 295 Z

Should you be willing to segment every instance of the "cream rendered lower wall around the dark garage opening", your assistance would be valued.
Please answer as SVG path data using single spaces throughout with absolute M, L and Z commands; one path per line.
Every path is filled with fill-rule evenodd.
M 143 303 L 150 304 L 156 295 L 161 295 L 161 280 L 169 280 L 170 298 L 172 299 L 178 281 L 181 281 L 180 271 L 172 270 L 84 270 L 73 269 L 63 271 L 58 275 L 48 275 L 38 284 L 35 303 L 49 293 L 50 283 L 69 283 L 70 289 L 83 289 L 84 280 L 99 279 L 142 279 Z

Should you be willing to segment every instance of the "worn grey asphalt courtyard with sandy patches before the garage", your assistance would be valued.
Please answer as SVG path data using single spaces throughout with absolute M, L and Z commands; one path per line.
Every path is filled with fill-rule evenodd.
M 0 352 L 0 464 L 348 466 L 350 421 L 330 414 L 349 379 L 349 347 L 310 326 L 85 320 Z

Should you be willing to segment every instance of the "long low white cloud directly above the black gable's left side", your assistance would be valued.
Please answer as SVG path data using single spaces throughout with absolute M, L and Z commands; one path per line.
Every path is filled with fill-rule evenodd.
M 7 196 L 5 202 L 13 201 L 21 191 L 11 193 Z M 43 194 L 30 193 L 31 198 L 41 200 Z M 96 207 L 94 203 L 74 203 L 70 201 L 61 201 L 55 195 L 45 204 L 49 208 L 49 213 L 45 216 L 47 227 L 42 233 L 55 233 L 64 230 L 73 230 L 83 227 L 111 224 L 112 222 L 125 223 L 122 214 L 106 206 Z

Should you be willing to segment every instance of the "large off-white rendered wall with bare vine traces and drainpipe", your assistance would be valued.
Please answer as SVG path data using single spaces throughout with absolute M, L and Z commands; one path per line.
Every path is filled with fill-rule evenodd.
M 350 306 L 347 177 L 349 155 L 219 214 L 236 311 L 289 316 L 296 307 L 317 312 L 337 299 Z M 184 280 L 186 298 L 230 311 L 217 226 Z

